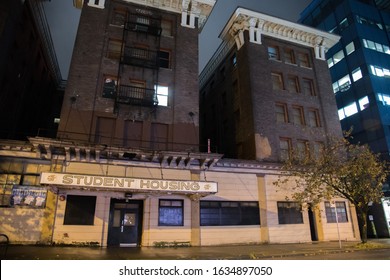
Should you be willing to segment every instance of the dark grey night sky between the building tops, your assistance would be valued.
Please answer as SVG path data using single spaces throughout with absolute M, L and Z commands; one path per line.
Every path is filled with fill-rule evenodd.
M 199 69 L 207 63 L 221 43 L 218 35 L 237 6 L 261 13 L 297 21 L 311 0 L 219 0 L 214 6 L 199 37 Z M 68 78 L 70 60 L 81 10 L 72 0 L 44 2 L 47 21 L 56 49 L 62 78 Z

